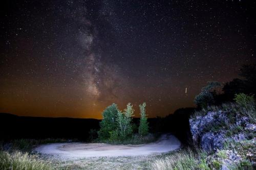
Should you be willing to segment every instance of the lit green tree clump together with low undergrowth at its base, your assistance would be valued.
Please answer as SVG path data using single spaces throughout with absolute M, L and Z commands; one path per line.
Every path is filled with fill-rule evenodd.
M 131 103 L 128 103 L 123 111 L 118 110 L 115 104 L 106 108 L 102 113 L 103 119 L 100 123 L 99 137 L 95 141 L 115 144 L 140 144 L 154 141 L 156 138 L 148 135 L 146 103 L 139 105 L 139 107 L 141 116 L 139 129 L 133 123 L 134 109 Z M 111 127 L 107 123 L 112 124 Z M 138 131 L 138 134 L 135 133 L 136 131 Z

